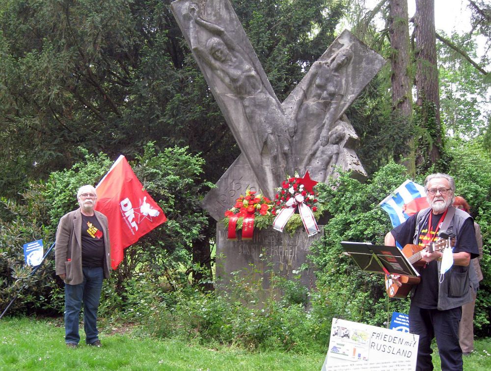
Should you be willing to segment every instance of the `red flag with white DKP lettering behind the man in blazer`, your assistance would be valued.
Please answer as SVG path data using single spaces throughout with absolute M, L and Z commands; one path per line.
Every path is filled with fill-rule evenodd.
M 123 260 L 123 249 L 134 244 L 167 218 L 143 189 L 125 156 L 114 162 L 96 187 L 95 209 L 108 217 L 111 267 Z

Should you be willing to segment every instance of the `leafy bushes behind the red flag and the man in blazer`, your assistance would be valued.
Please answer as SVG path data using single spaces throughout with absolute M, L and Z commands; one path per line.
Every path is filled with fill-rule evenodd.
M 81 151 L 84 159 L 71 169 L 52 173 L 46 183 L 30 183 L 23 202 L 1 199 L 4 210 L 0 219 L 0 304 L 6 306 L 8 298 L 27 282 L 12 307 L 12 314 L 33 310 L 41 313 L 43 308 L 63 310 L 62 282 L 55 276 L 54 253 L 44 263 L 46 267 L 27 278 L 30 269 L 24 267 L 22 246 L 41 238 L 45 244 L 54 242 L 61 216 L 78 207 L 78 188 L 84 184 L 96 185 L 108 172 L 112 165 L 108 155 Z M 105 281 L 103 299 L 109 302 L 102 308 L 102 314 L 105 309 L 109 312 L 124 307 L 127 287 L 124 281 L 135 273 L 159 277 L 170 287 L 187 282 L 196 266 L 192 260 L 194 243 L 202 238 L 203 228 L 207 226 L 199 204 L 204 189 L 209 186 L 200 179 L 203 163 L 187 148 L 166 148 L 157 152 L 152 143 L 146 145 L 144 153 L 136 159 L 133 169 L 137 177 L 162 207 L 168 222 L 125 250 L 125 259 L 113 272 L 114 278 Z M 210 270 L 207 275 L 211 276 Z M 116 293 L 116 297 L 111 297 Z

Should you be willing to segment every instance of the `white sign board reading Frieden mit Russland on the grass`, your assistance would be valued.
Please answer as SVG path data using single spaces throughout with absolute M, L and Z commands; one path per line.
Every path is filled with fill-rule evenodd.
M 418 335 L 333 318 L 322 371 L 414 371 L 418 342 Z

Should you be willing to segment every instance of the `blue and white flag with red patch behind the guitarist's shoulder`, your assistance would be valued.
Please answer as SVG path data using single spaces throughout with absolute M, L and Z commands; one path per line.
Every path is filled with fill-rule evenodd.
M 411 215 L 428 207 L 428 202 L 424 187 L 408 179 L 379 205 L 389 214 L 392 226 L 397 227 L 406 222 Z

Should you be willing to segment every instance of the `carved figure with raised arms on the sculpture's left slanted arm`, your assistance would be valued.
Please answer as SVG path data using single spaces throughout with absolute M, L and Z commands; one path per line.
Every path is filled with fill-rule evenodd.
M 291 157 L 289 140 L 281 135 L 285 128 L 281 106 L 265 88 L 246 52 L 226 30 L 201 18 L 196 4 L 189 3 L 187 10 L 184 17 L 189 22 L 191 48 L 240 100 L 251 137 L 258 141 L 263 168 L 271 168 L 273 181 L 279 184 L 284 177 L 284 164 L 288 167 Z M 214 35 L 204 48 L 198 42 L 196 26 Z

